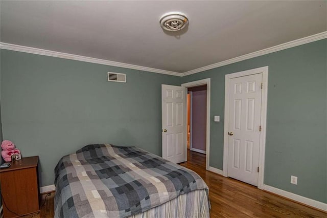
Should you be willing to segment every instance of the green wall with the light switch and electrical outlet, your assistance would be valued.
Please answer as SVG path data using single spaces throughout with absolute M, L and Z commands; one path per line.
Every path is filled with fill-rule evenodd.
M 264 183 L 327 203 L 326 64 L 324 39 L 182 77 L 211 78 L 210 166 L 223 168 L 225 75 L 269 66 Z

